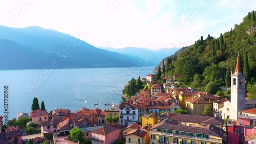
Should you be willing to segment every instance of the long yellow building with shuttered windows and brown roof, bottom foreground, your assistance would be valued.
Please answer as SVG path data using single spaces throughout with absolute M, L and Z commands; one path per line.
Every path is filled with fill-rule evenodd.
M 150 130 L 150 143 L 222 143 L 223 130 L 214 125 L 189 127 L 167 118 Z

